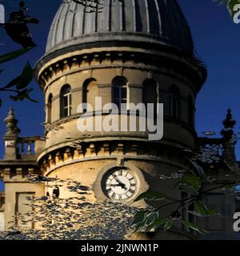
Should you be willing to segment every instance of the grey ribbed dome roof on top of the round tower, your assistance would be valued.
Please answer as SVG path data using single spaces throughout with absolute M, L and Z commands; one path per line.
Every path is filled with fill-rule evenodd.
M 102 0 L 101 12 L 64 0 L 50 28 L 46 53 L 91 42 L 152 42 L 192 53 L 190 28 L 175 0 Z

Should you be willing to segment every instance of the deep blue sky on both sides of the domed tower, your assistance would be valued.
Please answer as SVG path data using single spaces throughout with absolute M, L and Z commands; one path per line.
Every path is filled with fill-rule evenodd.
M 20 0 L 0 0 L 6 6 L 6 12 L 17 10 Z M 44 54 L 46 37 L 50 23 L 62 0 L 26 0 L 26 6 L 30 7 L 30 14 L 40 20 L 40 23 L 30 26 L 34 41 L 38 44 L 34 50 L 25 56 L 1 66 L 5 71 L 1 74 L 1 86 L 10 82 L 20 74 L 27 60 L 34 63 Z M 235 25 L 230 19 L 230 14 L 225 6 L 217 6 L 211 0 L 178 0 L 192 30 L 196 54 L 208 68 L 208 79 L 203 86 L 197 100 L 196 129 L 200 135 L 202 131 L 222 129 L 222 120 L 226 110 L 233 110 L 234 118 L 238 121 L 236 131 L 240 131 L 240 111 L 238 110 L 238 98 L 240 96 L 239 59 L 240 59 L 240 24 Z M 3 29 L 0 29 L 0 54 L 11 50 L 18 50 L 20 46 L 11 42 L 6 37 Z M 43 134 L 44 104 L 42 90 L 36 82 L 32 82 L 33 96 L 39 103 L 10 102 L 7 95 L 1 95 L 5 100 L 0 108 L 0 138 L 6 128 L 3 119 L 6 117 L 10 106 L 14 107 L 22 130 L 21 136 Z M 240 143 L 238 143 L 240 144 Z M 3 155 L 3 141 L 0 141 L 0 158 Z M 237 147 L 238 159 L 240 159 L 240 147 Z M 0 184 L 0 190 L 2 186 Z

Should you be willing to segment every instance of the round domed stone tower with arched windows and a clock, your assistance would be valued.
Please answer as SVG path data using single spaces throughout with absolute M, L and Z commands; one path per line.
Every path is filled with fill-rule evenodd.
M 90 14 L 63 2 L 36 66 L 46 98 L 42 172 L 92 187 L 90 200 L 131 202 L 148 186 L 169 186 L 159 175 L 186 167 L 182 148 L 193 148 L 196 137 L 194 100 L 206 70 L 193 51 L 175 1 L 106 1 L 101 13 Z M 164 138 L 150 142 L 150 131 L 139 130 L 79 132 L 78 104 L 95 107 L 96 97 L 102 105 L 163 103 Z

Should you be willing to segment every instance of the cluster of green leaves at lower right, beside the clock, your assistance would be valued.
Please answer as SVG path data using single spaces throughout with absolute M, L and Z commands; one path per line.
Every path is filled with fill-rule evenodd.
M 216 146 L 213 145 L 216 150 Z M 240 178 L 235 182 L 219 182 L 214 183 L 214 178 L 210 178 L 209 174 L 202 168 L 201 165 L 210 167 L 215 162 L 221 162 L 221 157 L 214 152 L 209 154 L 210 146 L 206 147 L 206 154 L 203 148 L 200 147 L 198 154 L 194 154 L 192 158 L 186 157 L 186 160 L 192 165 L 191 170 L 181 170 L 178 173 L 178 182 L 174 185 L 174 190 L 182 192 L 186 196 L 183 198 L 170 198 L 162 193 L 148 190 L 140 194 L 135 201 L 140 199 L 146 200 L 148 203 L 158 202 L 159 206 L 155 206 L 152 210 L 140 210 L 135 215 L 133 226 L 136 231 L 156 230 L 158 228 L 163 231 L 170 230 L 176 222 L 181 223 L 186 227 L 186 230 L 196 231 L 198 234 L 206 234 L 200 226 L 194 222 L 190 222 L 187 215 L 192 215 L 198 218 L 206 218 L 220 215 L 218 211 L 206 206 L 204 202 L 204 195 L 210 192 L 233 192 L 235 187 L 239 185 Z M 217 150 L 219 153 L 219 150 Z M 204 157 L 203 157 L 204 155 Z M 210 185 L 207 188 L 207 185 Z M 172 206 L 173 211 L 162 216 L 162 210 L 166 206 Z M 222 215 L 220 215 L 222 216 Z

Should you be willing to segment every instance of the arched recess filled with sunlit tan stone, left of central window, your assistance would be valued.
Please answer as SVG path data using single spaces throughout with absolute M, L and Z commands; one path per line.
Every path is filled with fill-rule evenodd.
M 96 97 L 98 97 L 98 83 L 96 79 L 86 79 L 82 85 L 82 103 L 90 103 L 94 109 Z

